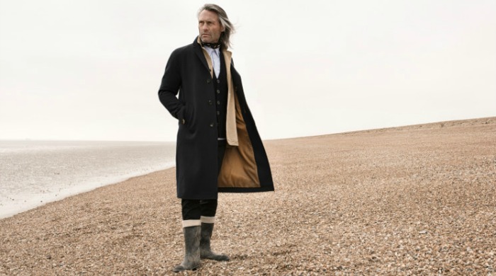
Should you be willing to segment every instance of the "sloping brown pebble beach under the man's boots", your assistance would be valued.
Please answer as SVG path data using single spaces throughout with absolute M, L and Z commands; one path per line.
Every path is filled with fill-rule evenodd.
M 1 219 L 0 275 L 496 275 L 496 117 L 264 145 L 276 191 L 219 196 L 229 262 L 172 272 L 169 168 Z

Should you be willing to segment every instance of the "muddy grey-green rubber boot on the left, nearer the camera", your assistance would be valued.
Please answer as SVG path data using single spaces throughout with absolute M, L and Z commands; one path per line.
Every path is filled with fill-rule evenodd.
M 181 265 L 174 268 L 174 272 L 184 270 L 196 270 L 200 266 L 200 233 L 201 226 L 191 226 L 183 228 L 184 245 L 186 254 Z

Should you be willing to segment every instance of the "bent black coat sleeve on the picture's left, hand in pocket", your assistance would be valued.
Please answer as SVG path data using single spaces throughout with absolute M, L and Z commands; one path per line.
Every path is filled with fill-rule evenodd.
M 162 84 L 160 84 L 159 88 L 159 100 L 172 116 L 184 124 L 184 104 L 177 98 L 177 93 L 179 93 L 180 88 L 181 62 L 176 50 L 172 52 L 171 57 L 169 57 L 169 61 L 165 66 Z

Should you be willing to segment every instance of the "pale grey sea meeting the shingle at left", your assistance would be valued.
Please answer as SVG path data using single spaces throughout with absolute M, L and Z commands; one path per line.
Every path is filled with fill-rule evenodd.
M 175 166 L 174 142 L 0 140 L 0 219 Z

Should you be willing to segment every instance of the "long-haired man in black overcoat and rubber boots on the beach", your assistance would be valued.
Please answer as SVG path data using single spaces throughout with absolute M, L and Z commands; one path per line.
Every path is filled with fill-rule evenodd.
M 229 260 L 210 249 L 218 192 L 274 190 L 228 51 L 233 25 L 220 6 L 205 4 L 198 33 L 191 45 L 172 52 L 159 89 L 160 101 L 179 121 L 176 182 L 186 255 L 175 272 L 198 268 L 201 258 Z

